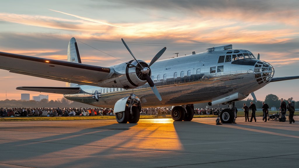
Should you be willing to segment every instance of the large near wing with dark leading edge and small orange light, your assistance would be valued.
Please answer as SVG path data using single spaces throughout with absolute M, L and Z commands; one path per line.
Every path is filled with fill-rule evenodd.
M 0 69 L 9 72 L 98 86 L 98 81 L 111 76 L 114 69 L 82 63 L 0 52 Z

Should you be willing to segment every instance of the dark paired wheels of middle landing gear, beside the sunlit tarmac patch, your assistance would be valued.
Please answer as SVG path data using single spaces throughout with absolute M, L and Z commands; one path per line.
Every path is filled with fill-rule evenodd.
M 171 110 L 171 117 L 174 121 L 191 121 L 194 115 L 194 106 L 190 105 L 182 105 L 175 106 Z

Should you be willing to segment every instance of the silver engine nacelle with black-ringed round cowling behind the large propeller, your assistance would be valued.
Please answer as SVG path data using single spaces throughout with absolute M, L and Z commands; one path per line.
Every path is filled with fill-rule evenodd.
M 138 60 L 143 67 L 148 67 L 148 64 L 143 60 Z M 143 77 L 141 70 L 134 67 L 141 67 L 136 60 L 130 60 L 117 65 L 110 66 L 109 68 L 114 69 L 114 74 L 105 80 L 99 81 L 100 87 L 115 87 L 124 89 L 133 89 L 138 86 L 142 86 L 147 83 L 146 78 Z M 132 66 L 132 65 L 134 66 Z M 149 71 L 151 76 L 151 71 Z

